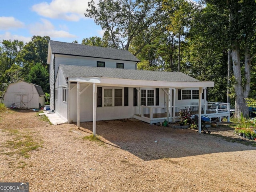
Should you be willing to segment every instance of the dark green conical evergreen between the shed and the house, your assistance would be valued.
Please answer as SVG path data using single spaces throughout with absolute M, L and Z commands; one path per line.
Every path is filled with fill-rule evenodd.
M 49 73 L 40 63 L 36 63 L 26 76 L 25 80 L 27 82 L 40 85 L 44 92 L 49 93 L 50 84 L 49 84 Z

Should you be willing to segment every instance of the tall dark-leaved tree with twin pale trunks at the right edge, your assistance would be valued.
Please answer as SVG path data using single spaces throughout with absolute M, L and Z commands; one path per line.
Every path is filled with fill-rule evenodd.
M 251 63 L 256 56 L 256 52 L 252 52 L 252 44 L 256 40 L 256 2 L 255 0 L 206 0 L 206 2 L 218 7 L 220 12 L 227 12 L 228 26 L 223 26 L 227 29 L 228 46 L 231 50 L 236 117 L 240 117 L 241 114 L 248 117 L 245 98 L 248 98 L 250 93 Z M 243 62 L 241 58 L 244 58 Z

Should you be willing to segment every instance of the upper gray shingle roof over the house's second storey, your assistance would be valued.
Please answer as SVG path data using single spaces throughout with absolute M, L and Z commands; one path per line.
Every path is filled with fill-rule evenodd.
M 49 41 L 49 44 L 52 53 L 55 54 L 140 62 L 138 58 L 136 58 L 133 54 L 126 50 L 66 43 L 52 40 Z

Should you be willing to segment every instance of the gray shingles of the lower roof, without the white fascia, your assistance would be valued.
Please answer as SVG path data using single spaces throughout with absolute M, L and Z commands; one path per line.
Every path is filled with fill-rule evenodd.
M 68 77 L 108 77 L 132 80 L 199 82 L 182 72 L 146 71 L 119 68 L 60 65 L 65 78 Z

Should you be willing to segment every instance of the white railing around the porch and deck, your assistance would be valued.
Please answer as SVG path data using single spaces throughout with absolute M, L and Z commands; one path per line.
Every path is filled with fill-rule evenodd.
M 190 114 L 198 115 L 199 113 L 198 105 L 185 105 L 185 106 L 170 106 L 169 107 L 169 117 L 179 118 L 181 110 L 190 110 Z M 208 102 L 206 105 L 201 106 L 201 114 L 204 116 L 214 115 L 214 114 L 224 114 L 229 115 L 230 106 L 229 103 L 216 103 Z M 160 106 L 141 106 L 141 117 L 152 119 L 163 119 L 167 118 L 167 108 Z M 174 114 L 173 114 L 174 113 Z

